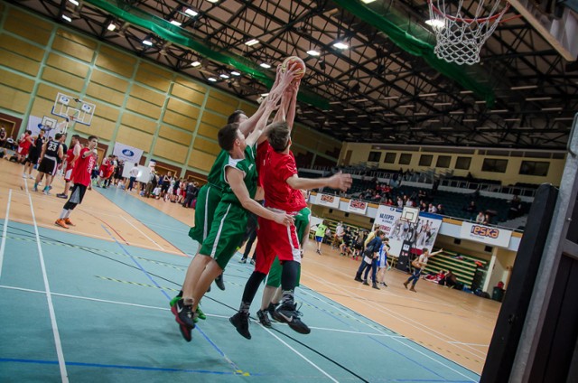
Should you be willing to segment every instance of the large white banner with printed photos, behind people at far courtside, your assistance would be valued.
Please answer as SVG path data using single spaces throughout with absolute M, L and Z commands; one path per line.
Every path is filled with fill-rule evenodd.
M 417 224 L 411 225 L 401 219 L 401 209 L 379 205 L 375 223 L 389 238 L 391 254 L 399 257 L 404 240 L 411 241 L 416 254 L 422 254 L 424 248 L 432 251 L 437 233 L 442 226 L 442 217 L 436 214 L 419 213 Z

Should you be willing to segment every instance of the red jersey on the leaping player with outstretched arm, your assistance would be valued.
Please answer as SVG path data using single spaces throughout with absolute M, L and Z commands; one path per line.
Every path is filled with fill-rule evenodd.
M 265 191 L 266 207 L 284 210 L 287 212 L 299 211 L 307 207 L 300 191 L 294 190 L 286 180 L 297 174 L 297 165 L 292 152 L 289 154 L 276 153 L 264 142 L 257 148 L 257 161 L 260 166 L 259 179 Z

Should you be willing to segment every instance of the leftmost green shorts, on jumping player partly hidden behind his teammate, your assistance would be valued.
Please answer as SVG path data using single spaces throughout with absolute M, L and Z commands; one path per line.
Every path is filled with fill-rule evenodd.
M 189 230 L 189 237 L 201 245 L 209 236 L 210 227 L 215 218 L 222 192 L 219 188 L 207 183 L 200 188 L 195 208 L 195 226 Z

